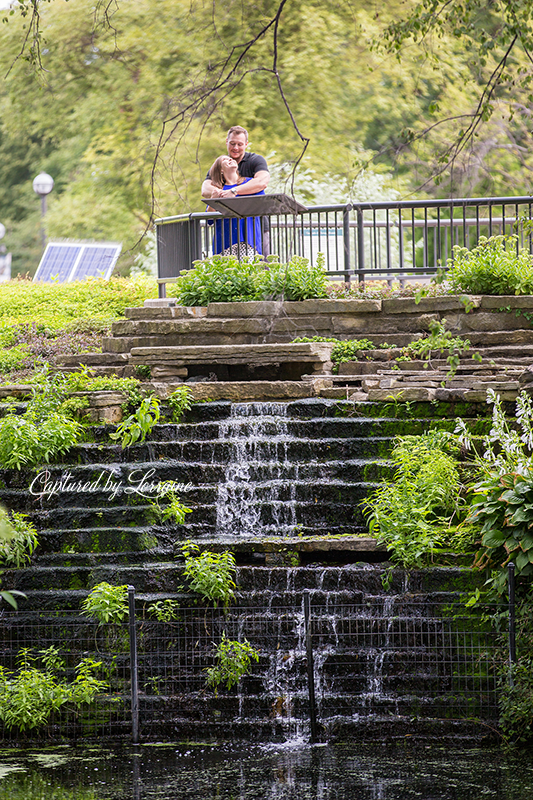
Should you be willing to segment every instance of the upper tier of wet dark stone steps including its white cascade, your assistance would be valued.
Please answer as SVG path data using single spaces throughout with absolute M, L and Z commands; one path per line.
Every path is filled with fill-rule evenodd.
M 394 436 L 430 420 L 363 417 L 364 407 L 312 398 L 198 404 L 126 450 L 108 426 L 94 426 L 93 441 L 60 464 L 2 470 L 0 502 L 28 514 L 40 542 L 32 565 L 6 570 L 4 585 L 33 607 L 75 608 L 100 581 L 173 596 L 188 538 L 230 548 L 241 564 L 383 560 L 365 536 L 360 501 L 389 474 Z M 162 523 L 154 505 L 154 487 L 171 480 L 192 509 L 181 526 Z

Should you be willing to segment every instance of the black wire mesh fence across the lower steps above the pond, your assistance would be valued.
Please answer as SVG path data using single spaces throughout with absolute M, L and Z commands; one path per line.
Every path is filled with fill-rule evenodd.
M 142 612 L 135 620 L 132 662 L 127 623 L 99 625 L 75 612 L 4 612 L 0 736 L 130 738 L 132 706 L 145 740 L 230 735 L 250 726 L 264 736 L 305 731 L 313 713 L 325 730 L 339 720 L 354 729 L 361 721 L 400 718 L 495 724 L 498 682 L 508 663 L 506 636 L 491 622 L 501 613 L 386 595 L 333 610 L 311 603 L 308 625 L 303 600 L 301 606 L 269 609 L 179 608 L 170 621 Z M 248 642 L 258 654 L 231 688 L 225 681 L 207 684 L 208 671 L 220 666 L 223 637 Z M 24 691 L 31 695 L 29 679 L 17 690 L 21 674 L 46 673 L 51 661 L 55 682 L 72 687 L 84 659 L 98 665 L 94 674 L 105 682 L 90 702 L 67 700 L 52 708 L 44 724 L 27 724 L 22 733 L 6 724 L 9 703 L 23 703 Z M 46 702 L 44 691 L 41 706 Z

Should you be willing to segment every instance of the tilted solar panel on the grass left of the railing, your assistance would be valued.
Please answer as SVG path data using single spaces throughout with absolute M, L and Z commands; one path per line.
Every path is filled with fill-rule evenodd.
M 49 242 L 34 281 L 70 283 L 111 276 L 122 245 L 116 242 Z

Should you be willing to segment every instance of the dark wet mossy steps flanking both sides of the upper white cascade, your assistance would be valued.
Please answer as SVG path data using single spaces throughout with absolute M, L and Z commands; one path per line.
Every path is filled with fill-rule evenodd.
M 77 445 L 60 464 L 37 473 L 3 470 L 0 501 L 28 514 L 40 541 L 31 567 L 6 573 L 11 587 L 25 591 L 37 605 L 72 607 L 103 580 L 131 583 L 147 596 L 175 593 L 181 542 L 215 539 L 218 487 L 232 458 L 231 443 L 220 438 L 220 424 L 230 411 L 228 402 L 197 405 L 188 421 L 158 425 L 149 441 L 126 450 L 110 440 L 108 426 L 93 427 L 94 441 Z M 291 403 L 288 439 L 272 442 L 272 454 L 279 450 L 290 467 L 276 500 L 294 507 L 294 529 L 282 534 L 287 542 L 363 533 L 359 503 L 390 474 L 383 459 L 393 436 L 422 432 L 428 424 L 425 419 L 336 417 L 339 411 L 329 400 Z M 352 412 L 350 404 L 346 413 Z M 268 499 L 268 473 L 265 478 L 261 470 L 251 463 L 249 479 L 257 482 L 263 537 L 275 538 L 280 530 Z M 161 523 L 146 488 L 166 481 L 181 485 L 178 493 L 193 509 L 182 526 Z M 231 537 L 226 538 L 231 546 Z M 233 541 L 239 543 L 238 536 Z M 303 549 L 301 543 L 296 548 Z

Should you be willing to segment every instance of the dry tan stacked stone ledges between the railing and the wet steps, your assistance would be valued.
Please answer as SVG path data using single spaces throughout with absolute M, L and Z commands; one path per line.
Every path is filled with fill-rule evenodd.
M 165 397 L 181 382 L 198 400 L 289 400 L 301 397 L 386 401 L 483 402 L 488 388 L 513 400 L 527 388 L 533 364 L 530 297 L 458 297 L 294 302 L 211 303 L 185 308 L 148 300 L 114 323 L 102 353 L 69 356 L 63 369 L 84 363 L 96 374 L 150 376 Z M 457 369 L 443 357 L 396 362 L 398 351 L 444 323 L 470 349 Z M 370 338 L 377 349 L 332 371 L 331 345 L 296 337 Z M 472 359 L 478 353 L 481 362 Z

